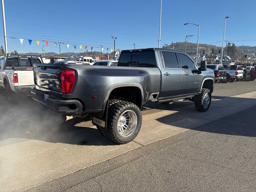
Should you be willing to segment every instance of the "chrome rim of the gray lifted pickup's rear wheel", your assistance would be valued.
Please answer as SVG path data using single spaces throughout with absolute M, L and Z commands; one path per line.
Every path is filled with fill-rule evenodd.
M 123 112 L 117 122 L 117 132 L 122 137 L 132 135 L 138 124 L 138 118 L 134 111 L 126 110 Z

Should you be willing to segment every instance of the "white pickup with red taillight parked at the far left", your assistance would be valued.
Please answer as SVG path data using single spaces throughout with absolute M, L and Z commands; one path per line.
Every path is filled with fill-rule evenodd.
M 6 98 L 14 92 L 30 93 L 34 88 L 34 63 L 43 63 L 40 56 L 7 55 L 0 58 L 0 88 L 6 90 Z

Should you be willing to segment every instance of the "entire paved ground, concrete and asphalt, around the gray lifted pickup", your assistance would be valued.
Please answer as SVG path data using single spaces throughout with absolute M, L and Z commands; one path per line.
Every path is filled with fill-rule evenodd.
M 215 84 L 205 113 L 192 102 L 149 103 L 138 137 L 116 145 L 90 118 L 62 122 L 30 98 L 6 103 L 2 92 L 0 189 L 254 191 L 255 98 L 253 81 Z

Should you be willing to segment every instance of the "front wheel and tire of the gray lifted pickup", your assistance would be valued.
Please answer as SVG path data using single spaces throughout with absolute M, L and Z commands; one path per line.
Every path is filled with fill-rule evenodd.
M 205 112 L 210 108 L 212 102 L 212 94 L 209 89 L 202 88 L 200 94 L 195 95 L 195 108 L 200 112 Z

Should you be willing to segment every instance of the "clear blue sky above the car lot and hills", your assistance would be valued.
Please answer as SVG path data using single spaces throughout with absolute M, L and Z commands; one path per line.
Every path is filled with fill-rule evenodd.
M 186 22 L 200 24 L 200 43 L 222 45 L 225 16 L 225 40 L 236 45 L 256 45 L 255 0 L 162 0 L 161 46 L 184 41 L 198 28 L 184 26 Z M 79 45 L 94 46 L 100 51 L 103 45 L 113 48 L 112 35 L 117 36 L 116 49 L 158 46 L 160 0 L 5 0 L 8 51 L 42 52 L 36 40 L 48 40 L 46 52 L 59 52 L 53 42 L 61 45 L 62 52 L 81 52 Z M 2 26 L 2 14 L 1 14 Z M 0 45 L 4 46 L 3 29 L 0 28 Z M 24 38 L 23 45 L 18 38 Z M 28 40 L 32 39 L 29 45 Z M 73 44 L 76 44 L 76 50 Z

